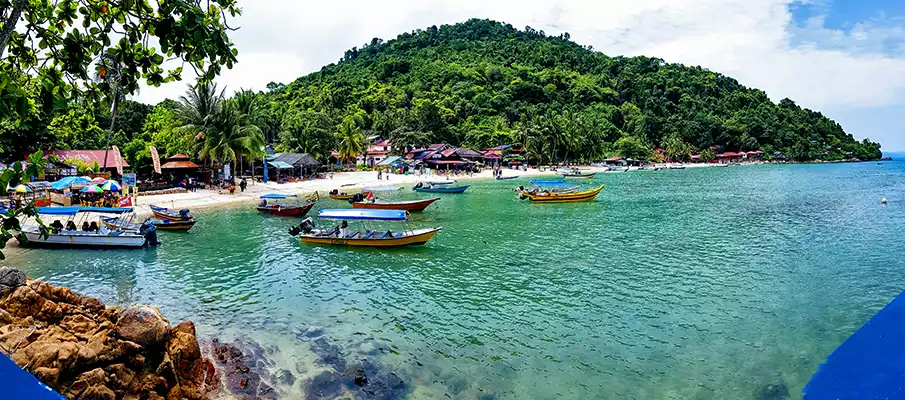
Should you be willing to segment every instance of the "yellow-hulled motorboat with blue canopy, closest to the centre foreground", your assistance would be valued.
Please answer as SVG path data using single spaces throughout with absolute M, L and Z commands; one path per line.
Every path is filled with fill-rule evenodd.
M 332 229 L 318 229 L 311 218 L 307 218 L 289 233 L 299 236 L 303 243 L 335 246 L 400 247 L 423 245 L 440 228 L 414 229 L 409 214 L 403 210 L 321 210 L 318 218 L 327 221 L 342 220 L 342 224 Z M 364 230 L 349 230 L 348 221 L 365 225 Z M 376 230 L 371 224 L 379 221 L 409 222 L 399 230 Z

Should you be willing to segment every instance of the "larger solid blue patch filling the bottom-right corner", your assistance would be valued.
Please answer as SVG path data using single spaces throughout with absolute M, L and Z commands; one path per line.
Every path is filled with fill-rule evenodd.
M 804 398 L 905 398 L 905 292 L 830 354 Z

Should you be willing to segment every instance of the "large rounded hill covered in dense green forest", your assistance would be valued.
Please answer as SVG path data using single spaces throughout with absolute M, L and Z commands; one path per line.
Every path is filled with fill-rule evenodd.
M 775 104 L 719 73 L 658 58 L 609 57 L 568 34 L 489 20 L 374 39 L 320 72 L 271 89 L 271 108 L 284 128 L 287 113 L 324 128 L 346 119 L 396 143 L 518 142 L 545 162 L 637 156 L 655 147 L 681 158 L 713 145 L 795 160 L 881 156 L 879 144 L 858 142 L 821 113 L 788 99 Z M 295 128 L 296 138 L 284 141 L 309 130 Z

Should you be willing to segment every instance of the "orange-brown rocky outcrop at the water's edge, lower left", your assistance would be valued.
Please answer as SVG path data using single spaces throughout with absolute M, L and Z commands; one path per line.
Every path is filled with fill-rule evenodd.
M 0 269 L 0 346 L 71 399 L 206 399 L 220 388 L 191 322 L 171 328 L 157 308 L 105 307 L 7 268 Z

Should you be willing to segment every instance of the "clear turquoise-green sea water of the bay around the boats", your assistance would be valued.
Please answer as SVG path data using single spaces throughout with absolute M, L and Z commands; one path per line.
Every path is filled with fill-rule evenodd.
M 798 398 L 905 289 L 905 163 L 599 176 L 583 204 L 473 183 L 416 215 L 443 227 L 421 248 L 307 246 L 285 233 L 295 220 L 249 206 L 200 213 L 158 249 L 15 250 L 7 264 L 276 346 L 303 376 L 319 368 L 296 338 L 308 326 L 353 357 L 389 346 L 376 357 L 413 398 L 744 399 L 777 379 Z

